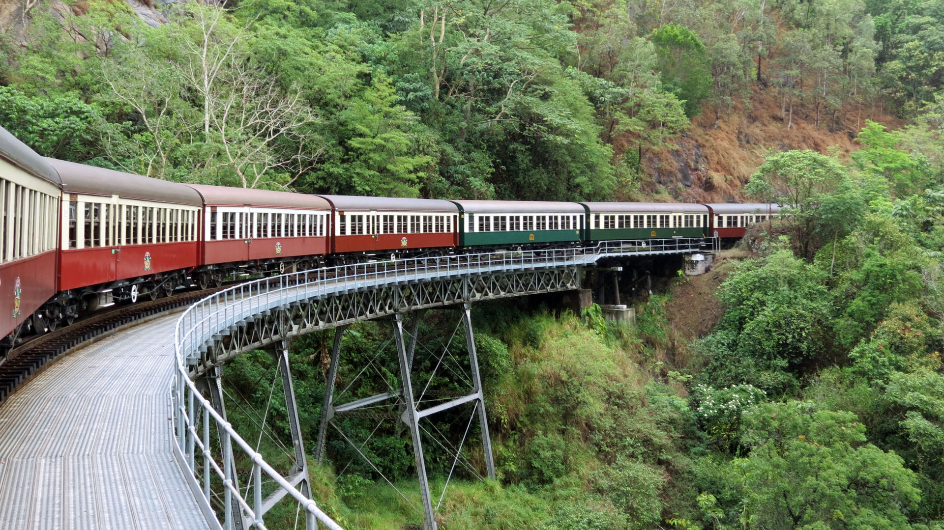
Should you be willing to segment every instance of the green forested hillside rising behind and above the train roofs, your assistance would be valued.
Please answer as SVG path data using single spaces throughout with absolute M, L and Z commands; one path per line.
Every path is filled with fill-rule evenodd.
M 245 187 L 604 199 L 752 86 L 786 127 L 825 126 L 877 97 L 934 112 L 944 72 L 936 0 L 242 0 L 157 27 L 65 4 L 0 34 L 0 124 L 45 156 Z M 866 132 L 879 156 L 901 140 Z

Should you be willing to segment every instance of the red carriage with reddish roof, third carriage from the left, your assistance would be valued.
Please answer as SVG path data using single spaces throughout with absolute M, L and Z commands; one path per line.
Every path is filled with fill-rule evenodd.
M 315 195 L 187 184 L 203 199 L 204 289 L 231 273 L 311 269 L 330 251 L 328 201 Z

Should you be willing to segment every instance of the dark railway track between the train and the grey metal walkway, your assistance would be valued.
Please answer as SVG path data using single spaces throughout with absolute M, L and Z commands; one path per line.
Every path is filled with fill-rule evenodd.
M 0 360 L 0 403 L 14 390 L 49 365 L 50 362 L 89 341 L 101 340 L 126 327 L 157 318 L 167 311 L 189 306 L 224 286 L 209 290 L 192 290 L 167 298 L 121 306 L 105 313 L 94 314 L 67 327 L 46 333 L 17 346 Z

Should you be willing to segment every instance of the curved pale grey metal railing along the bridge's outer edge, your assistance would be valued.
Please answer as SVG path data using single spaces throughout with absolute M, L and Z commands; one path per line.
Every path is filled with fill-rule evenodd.
M 705 247 L 708 248 L 705 248 Z M 416 282 L 464 274 L 484 274 L 496 271 L 552 269 L 576 267 L 596 262 L 601 257 L 647 256 L 713 252 L 716 239 L 672 240 L 617 240 L 602 241 L 591 247 L 540 251 L 507 251 L 487 254 L 419 257 L 388 261 L 374 261 L 316 269 L 302 273 L 286 273 L 261 278 L 218 291 L 190 306 L 177 320 L 175 349 L 177 371 L 172 382 L 174 408 L 174 439 L 177 460 L 186 467 L 190 486 L 201 502 L 208 522 L 217 523 L 211 510 L 211 478 L 216 475 L 225 487 L 223 528 L 232 528 L 232 513 L 236 504 L 242 507 L 248 522 L 256 528 L 265 528 L 262 521 L 262 473 L 295 498 L 306 513 L 306 527 L 316 528 L 321 522 L 332 530 L 341 527 L 333 522 L 312 499 L 295 489 L 285 477 L 269 466 L 226 419 L 201 395 L 191 377 L 188 366 L 196 365 L 201 351 L 207 351 L 213 340 L 226 333 L 229 326 L 243 322 L 247 317 L 263 311 L 288 306 L 295 302 L 318 299 L 344 290 L 371 289 L 392 282 Z M 202 417 L 202 428 L 197 415 Z M 211 425 L 215 426 L 222 446 L 222 464 L 211 452 Z M 233 466 L 234 446 L 243 451 L 252 462 L 252 499 L 235 486 Z M 202 486 L 197 482 L 195 451 L 203 455 Z M 251 503 L 251 504 L 250 504 Z

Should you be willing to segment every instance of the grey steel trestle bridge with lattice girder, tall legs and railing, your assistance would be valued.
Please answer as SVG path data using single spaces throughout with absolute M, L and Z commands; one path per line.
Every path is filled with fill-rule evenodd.
M 324 453 L 328 427 L 335 416 L 396 399 L 402 410 L 399 420 L 407 425 L 413 440 L 424 527 L 434 530 L 437 523 L 423 456 L 419 424 L 422 418 L 447 408 L 473 404 L 472 414 L 479 418 L 486 471 L 495 476 L 469 316 L 471 303 L 581 289 L 582 270 L 603 257 L 710 253 L 716 251 L 717 245 L 716 239 L 619 240 L 569 249 L 376 261 L 287 273 L 217 292 L 189 307 L 177 321 L 177 370 L 170 382 L 174 410 L 171 439 L 177 463 L 211 527 L 264 529 L 265 513 L 288 496 L 304 510 L 309 530 L 319 523 L 340 529 L 311 498 L 288 356 L 290 338 L 335 329 L 329 387 L 315 457 L 320 460 Z M 457 307 L 461 311 L 471 388 L 446 403 L 420 409 L 411 379 L 418 318 L 413 318 L 412 326 L 408 326 L 412 331 L 405 332 L 404 315 L 432 307 Z M 401 388 L 335 404 L 333 390 L 342 333 L 350 323 L 380 319 L 388 321 L 393 330 Z M 224 363 L 234 356 L 261 349 L 269 351 L 277 361 L 285 393 L 295 453 L 295 465 L 287 476 L 275 470 L 240 437 L 227 421 L 223 405 Z M 248 486 L 244 485 L 242 490 L 237 462 L 252 464 Z M 222 500 L 222 522 L 212 506 L 214 500 L 217 506 Z

